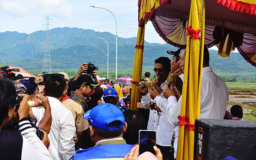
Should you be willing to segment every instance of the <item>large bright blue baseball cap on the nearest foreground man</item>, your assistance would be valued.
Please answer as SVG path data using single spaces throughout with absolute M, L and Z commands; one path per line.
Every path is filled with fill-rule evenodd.
M 125 116 L 123 112 L 115 105 L 102 103 L 87 111 L 84 118 L 97 129 L 114 130 L 121 129 L 125 125 Z M 119 126 L 108 126 L 113 121 L 122 122 Z

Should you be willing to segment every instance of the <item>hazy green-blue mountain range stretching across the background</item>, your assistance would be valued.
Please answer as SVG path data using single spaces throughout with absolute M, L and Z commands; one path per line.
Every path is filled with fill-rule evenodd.
M 54 28 L 49 30 L 50 53 L 53 69 L 78 70 L 84 62 L 99 66 L 99 73 L 106 72 L 107 44 L 109 43 L 109 70 L 115 72 L 115 35 L 109 32 L 95 32 L 91 29 Z M 45 48 L 45 31 L 31 34 L 0 32 L 0 60 L 2 65 L 19 66 L 30 71 L 40 71 Z M 133 68 L 136 37 L 118 37 L 118 73 L 130 74 Z M 167 50 L 177 50 L 169 44 L 144 43 L 143 72 L 154 74 L 154 60 L 164 56 L 172 58 Z M 239 78 L 256 77 L 255 67 L 239 53 L 222 58 L 216 50 L 209 50 L 210 65 L 215 73 Z

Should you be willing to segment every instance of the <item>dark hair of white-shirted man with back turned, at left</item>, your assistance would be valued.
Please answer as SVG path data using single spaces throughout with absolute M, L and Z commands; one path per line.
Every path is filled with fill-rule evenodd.
M 45 81 L 45 95 L 60 97 L 66 89 L 66 79 L 62 75 L 49 76 Z

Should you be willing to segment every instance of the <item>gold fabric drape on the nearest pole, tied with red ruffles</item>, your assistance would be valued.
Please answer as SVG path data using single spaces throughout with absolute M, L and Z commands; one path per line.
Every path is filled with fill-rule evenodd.
M 184 82 L 180 116 L 186 116 L 186 126 L 180 125 L 178 135 L 177 160 L 192 160 L 194 157 L 195 119 L 200 114 L 200 91 L 204 50 L 204 0 L 191 0 L 188 26 L 201 30 L 201 40 L 187 38 Z

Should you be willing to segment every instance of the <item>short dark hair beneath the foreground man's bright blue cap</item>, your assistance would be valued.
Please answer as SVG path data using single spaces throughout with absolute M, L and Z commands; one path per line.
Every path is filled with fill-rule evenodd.
M 111 123 L 109 123 L 109 127 L 114 127 L 114 126 L 120 126 L 120 124 L 122 124 L 121 121 L 113 121 Z M 114 137 L 118 137 L 122 134 L 123 132 L 123 128 L 121 129 L 113 129 L 113 130 L 103 130 L 103 129 L 98 129 L 96 127 L 95 131 L 97 133 L 98 136 L 102 137 L 102 138 L 114 138 Z

